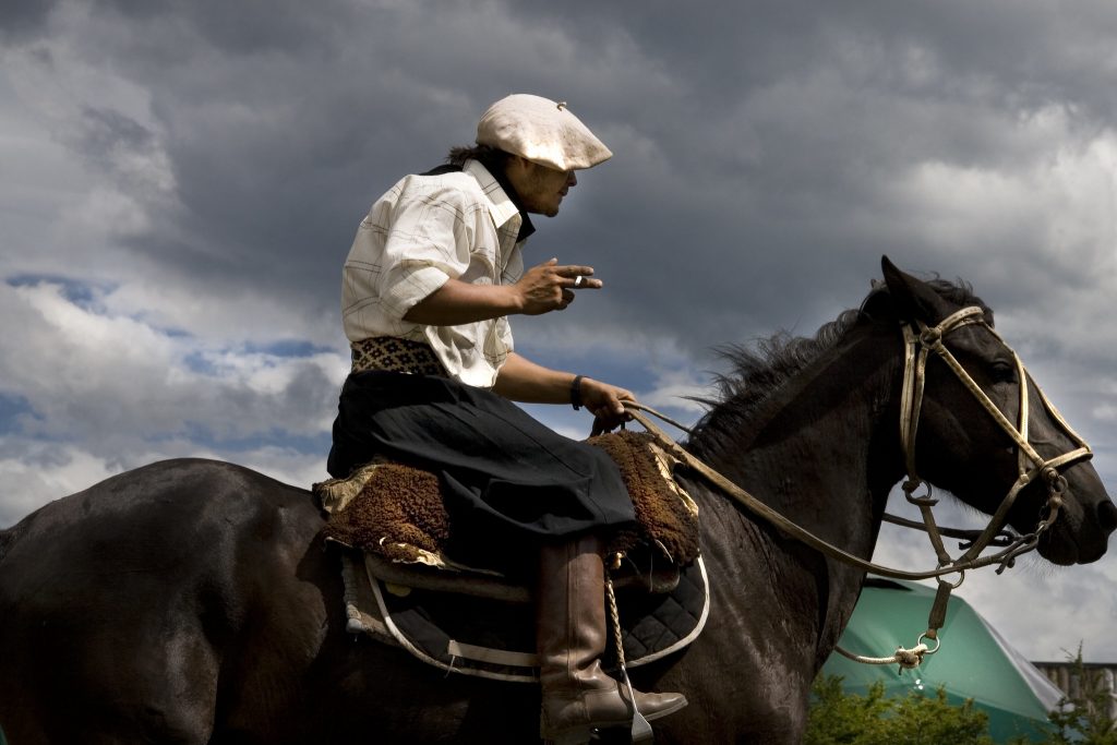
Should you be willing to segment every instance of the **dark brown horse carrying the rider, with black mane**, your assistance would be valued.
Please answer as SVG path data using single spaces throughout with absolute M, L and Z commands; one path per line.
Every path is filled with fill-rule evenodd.
M 934 325 L 978 305 L 965 288 L 885 264 L 887 288 L 814 340 L 736 354 L 724 399 L 687 443 L 801 526 L 870 556 L 899 438 L 900 323 Z M 1011 352 L 983 325 L 947 346 L 1006 417 Z M 1076 445 L 1042 407 L 1044 458 Z M 927 366 L 920 476 L 992 513 L 1018 477 L 1012 440 L 942 362 Z M 1057 564 L 1106 551 L 1117 508 L 1094 468 L 1067 489 L 1039 552 Z M 690 706 L 656 723 L 660 743 L 794 743 L 811 681 L 863 573 L 825 558 L 694 478 L 713 583 L 703 636 L 632 670 Z M 1048 493 L 1020 493 L 1009 522 L 1031 532 Z M 36 743 L 524 743 L 534 686 L 442 671 L 345 632 L 342 583 L 305 489 L 248 469 L 174 460 L 51 503 L 0 533 L 0 725 Z M 928 564 L 934 557 L 928 555 Z M 920 567 L 924 569 L 924 567 Z

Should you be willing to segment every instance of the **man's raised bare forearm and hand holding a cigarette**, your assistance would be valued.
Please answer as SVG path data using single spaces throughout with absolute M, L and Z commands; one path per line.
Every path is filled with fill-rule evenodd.
M 448 279 L 403 315 L 404 321 L 427 326 L 455 326 L 513 314 L 540 315 L 563 311 L 574 302 L 572 289 L 598 289 L 593 267 L 558 266 L 557 259 L 532 267 L 514 285 L 474 285 Z

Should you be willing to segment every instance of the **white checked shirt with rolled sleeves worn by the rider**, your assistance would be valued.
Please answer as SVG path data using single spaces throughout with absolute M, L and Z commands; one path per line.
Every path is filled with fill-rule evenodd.
M 460 172 L 404 176 L 373 203 L 345 260 L 345 336 L 424 342 L 451 376 L 491 388 L 513 350 L 507 318 L 427 326 L 403 316 L 451 278 L 474 285 L 518 280 L 522 223 L 512 199 L 477 161 Z

